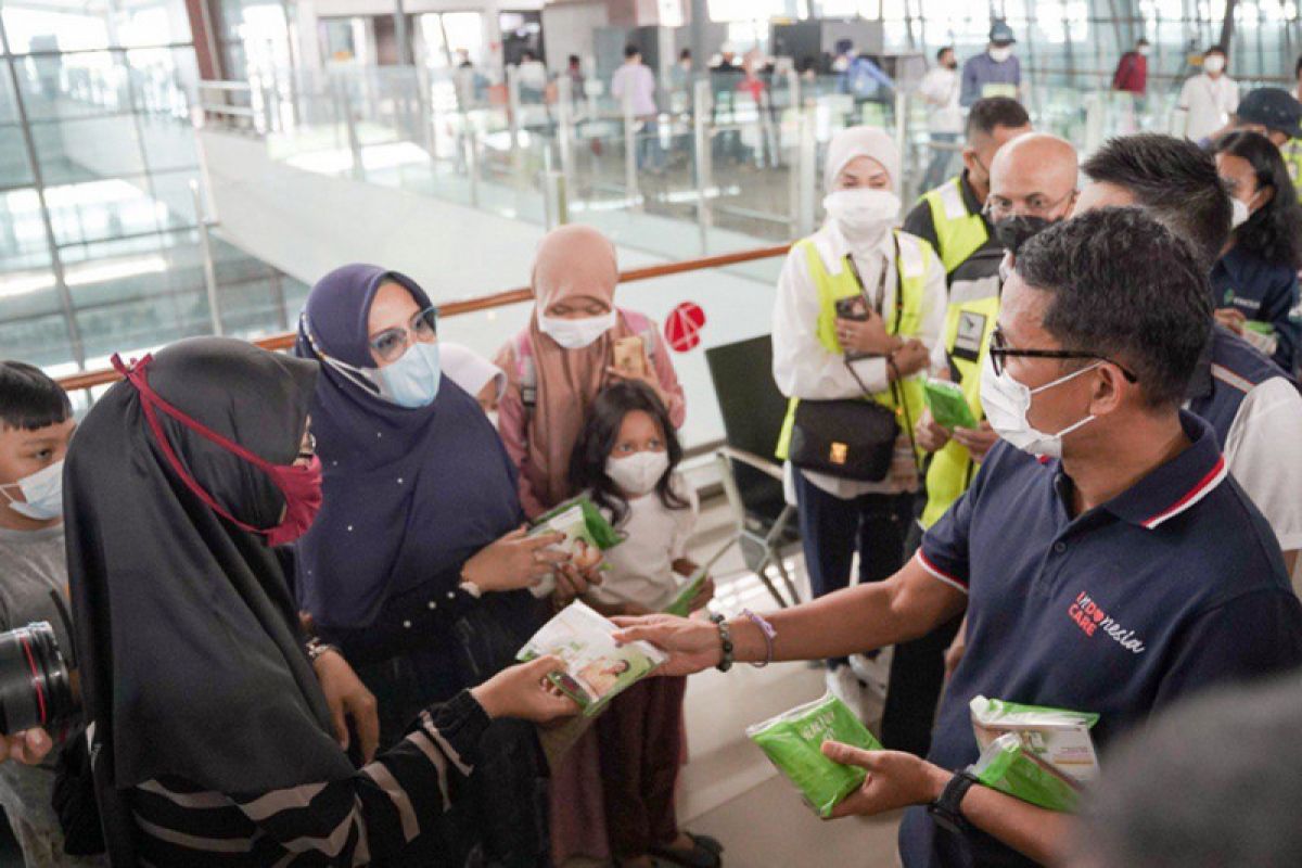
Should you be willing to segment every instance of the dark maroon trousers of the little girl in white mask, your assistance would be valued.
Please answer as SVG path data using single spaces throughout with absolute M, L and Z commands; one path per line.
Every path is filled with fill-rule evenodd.
M 673 787 L 682 761 L 686 678 L 647 678 L 596 721 L 611 852 L 628 859 L 678 837 Z

